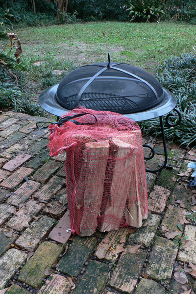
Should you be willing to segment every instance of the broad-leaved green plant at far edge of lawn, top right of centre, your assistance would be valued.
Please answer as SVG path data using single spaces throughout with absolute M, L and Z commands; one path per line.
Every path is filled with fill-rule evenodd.
M 132 0 L 128 10 L 130 10 L 131 21 L 139 22 L 153 22 L 164 14 L 162 6 L 157 6 L 157 3 L 152 0 Z

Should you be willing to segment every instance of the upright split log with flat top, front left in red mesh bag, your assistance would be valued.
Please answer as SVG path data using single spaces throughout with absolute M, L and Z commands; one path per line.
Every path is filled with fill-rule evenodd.
M 97 228 L 109 148 L 108 140 L 86 143 L 84 147 L 85 178 L 82 180 L 84 194 L 80 236 L 91 236 Z

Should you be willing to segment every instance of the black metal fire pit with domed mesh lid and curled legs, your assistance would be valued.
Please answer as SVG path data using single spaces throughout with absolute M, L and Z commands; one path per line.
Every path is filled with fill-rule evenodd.
M 164 136 L 162 116 L 175 111 L 177 123 L 169 122 L 174 116 L 168 114 L 166 123 L 176 126 L 181 121 L 180 112 L 174 108 L 176 98 L 164 89 L 158 80 L 144 70 L 124 63 L 97 63 L 80 67 L 68 73 L 62 81 L 45 90 L 39 97 L 40 106 L 57 119 L 78 105 L 94 110 L 107 110 L 125 115 L 135 122 L 159 117 L 163 138 L 165 162 L 157 170 L 167 165 L 167 149 Z M 155 152 L 145 159 L 153 158 Z

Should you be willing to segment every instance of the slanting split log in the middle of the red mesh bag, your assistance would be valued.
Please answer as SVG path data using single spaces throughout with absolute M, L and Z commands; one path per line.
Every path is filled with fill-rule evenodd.
M 98 230 L 102 232 L 117 230 L 121 224 L 130 188 L 130 169 L 134 166 L 134 153 L 137 151 L 135 146 L 123 142 L 121 136 L 113 138 L 110 144 L 114 162 L 108 179 L 111 182 L 110 191 L 98 224 Z

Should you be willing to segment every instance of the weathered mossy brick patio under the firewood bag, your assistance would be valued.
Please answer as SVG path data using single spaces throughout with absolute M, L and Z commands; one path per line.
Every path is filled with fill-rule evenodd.
M 196 211 L 196 189 L 178 175 L 195 156 L 168 146 L 173 169 L 147 173 L 145 226 L 73 236 L 66 231 L 63 162 L 49 157 L 48 130 L 35 128 L 43 120 L 11 111 L 0 115 L 0 294 L 196 294 L 196 279 L 185 270 L 189 261 L 196 265 L 196 223 L 185 219 Z M 173 231 L 192 245 L 179 250 L 166 238 Z M 183 272 L 187 282 L 177 282 L 175 272 Z

